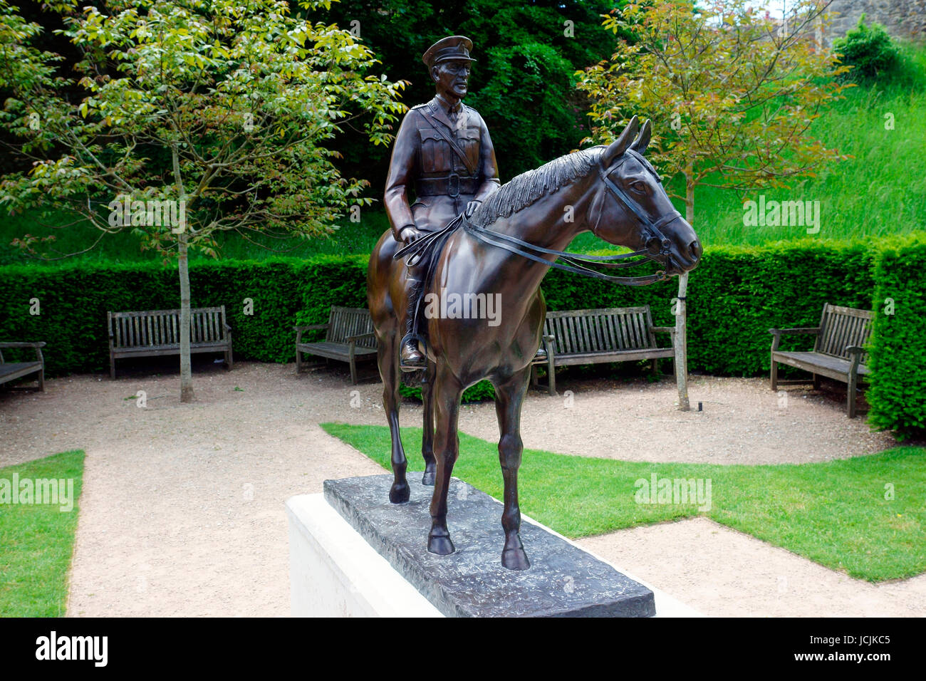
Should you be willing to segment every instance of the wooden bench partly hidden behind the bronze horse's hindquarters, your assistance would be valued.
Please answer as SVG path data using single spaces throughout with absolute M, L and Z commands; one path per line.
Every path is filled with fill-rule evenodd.
M 357 385 L 357 361 L 376 357 L 376 334 L 373 320 L 366 308 L 339 308 L 332 306 L 327 324 L 294 326 L 295 372 L 302 371 L 302 353 L 326 359 L 338 359 L 350 364 L 350 380 Z M 303 343 L 302 334 L 324 330 L 325 340 Z

